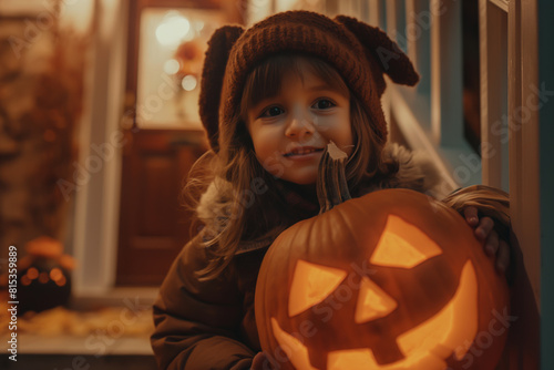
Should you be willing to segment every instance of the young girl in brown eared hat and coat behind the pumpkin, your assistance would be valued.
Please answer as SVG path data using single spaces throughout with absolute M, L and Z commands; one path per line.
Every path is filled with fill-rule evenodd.
M 248 30 L 227 25 L 209 41 L 201 116 L 212 151 L 189 191 L 197 235 L 173 264 L 154 306 L 152 346 L 161 369 L 260 368 L 254 290 L 267 247 L 318 214 L 316 178 L 332 141 L 348 154 L 353 196 L 386 187 L 431 193 L 432 166 L 389 145 L 383 74 L 418 74 L 383 32 L 347 17 L 273 16 Z M 202 176 L 199 175 L 202 173 Z M 507 264 L 489 217 L 465 209 L 485 250 Z

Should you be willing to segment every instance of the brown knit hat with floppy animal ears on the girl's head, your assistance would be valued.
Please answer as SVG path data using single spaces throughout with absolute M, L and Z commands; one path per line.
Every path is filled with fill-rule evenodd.
M 387 142 L 380 99 L 386 88 L 383 73 L 400 84 L 412 86 L 419 81 L 408 56 L 384 32 L 350 17 L 329 19 L 309 11 L 288 11 L 247 30 L 224 25 L 208 42 L 199 97 L 202 123 L 215 152 L 219 148 L 219 125 L 227 124 L 240 106 L 248 73 L 281 52 L 312 55 L 337 69 L 361 102 L 381 145 Z

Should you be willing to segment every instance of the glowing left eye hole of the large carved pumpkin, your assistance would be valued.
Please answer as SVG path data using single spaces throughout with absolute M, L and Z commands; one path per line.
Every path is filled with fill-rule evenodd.
M 290 287 L 288 315 L 293 317 L 321 302 L 337 289 L 346 275 L 347 273 L 341 269 L 299 259 L 296 263 Z

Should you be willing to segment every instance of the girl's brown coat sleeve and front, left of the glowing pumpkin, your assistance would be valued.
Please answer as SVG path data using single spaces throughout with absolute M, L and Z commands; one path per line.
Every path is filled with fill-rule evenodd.
M 242 254 L 214 280 L 194 271 L 206 257 L 188 243 L 170 269 L 154 305 L 152 347 L 160 369 L 249 369 L 259 341 L 254 289 L 265 249 Z

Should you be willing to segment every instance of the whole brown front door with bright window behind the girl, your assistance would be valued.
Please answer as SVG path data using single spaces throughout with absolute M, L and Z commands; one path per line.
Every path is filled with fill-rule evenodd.
M 119 286 L 158 286 L 189 239 L 179 196 L 207 150 L 197 116 L 203 48 L 222 22 L 240 22 L 242 9 L 219 0 L 130 1 Z

